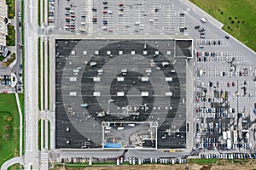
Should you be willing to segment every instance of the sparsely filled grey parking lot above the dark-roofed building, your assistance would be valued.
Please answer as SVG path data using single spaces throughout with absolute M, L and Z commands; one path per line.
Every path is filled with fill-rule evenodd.
M 86 3 L 65 0 L 63 3 L 55 2 L 49 10 L 49 22 L 54 23 L 55 32 L 62 34 L 183 35 L 185 21 L 185 14 L 177 11 L 173 3 L 155 0 L 147 3 L 142 0 L 92 0 Z

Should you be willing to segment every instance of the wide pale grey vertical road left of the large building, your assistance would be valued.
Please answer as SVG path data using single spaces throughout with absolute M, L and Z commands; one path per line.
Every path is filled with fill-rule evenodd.
M 25 169 L 38 169 L 38 1 L 25 0 Z

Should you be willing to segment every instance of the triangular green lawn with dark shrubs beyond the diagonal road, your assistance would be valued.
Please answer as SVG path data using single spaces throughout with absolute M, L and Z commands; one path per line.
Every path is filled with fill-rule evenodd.
M 255 0 L 190 0 L 224 24 L 239 41 L 256 51 Z

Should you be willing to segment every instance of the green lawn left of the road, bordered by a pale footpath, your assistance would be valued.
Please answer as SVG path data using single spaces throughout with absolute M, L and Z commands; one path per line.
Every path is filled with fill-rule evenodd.
M 19 112 L 15 94 L 0 94 L 0 153 L 0 167 L 4 161 L 19 156 Z

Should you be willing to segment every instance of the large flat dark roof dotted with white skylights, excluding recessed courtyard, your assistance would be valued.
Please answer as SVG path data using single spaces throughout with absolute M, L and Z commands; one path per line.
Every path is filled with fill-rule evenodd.
M 158 122 L 157 149 L 185 149 L 187 56 L 175 57 L 175 46 L 174 40 L 57 40 L 57 148 L 102 147 L 107 121 Z M 188 49 L 189 43 L 180 51 Z

